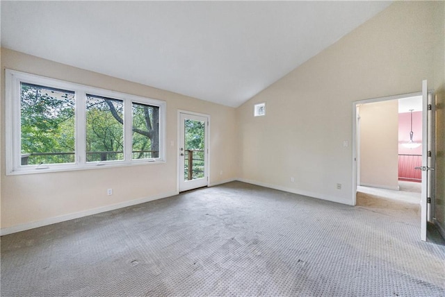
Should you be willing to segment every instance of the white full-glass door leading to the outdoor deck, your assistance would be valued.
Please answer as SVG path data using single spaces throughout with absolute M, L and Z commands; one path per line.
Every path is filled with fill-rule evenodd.
M 179 192 L 208 185 L 209 117 L 179 113 Z

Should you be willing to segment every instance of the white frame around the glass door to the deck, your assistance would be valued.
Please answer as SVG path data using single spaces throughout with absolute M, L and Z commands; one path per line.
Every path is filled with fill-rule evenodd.
M 205 129 L 205 134 L 204 134 L 204 147 L 207 150 L 207 152 L 204 151 L 205 155 L 206 155 L 206 161 L 204 162 L 204 172 L 207 175 L 207 187 L 209 186 L 210 183 L 210 153 L 211 153 L 211 149 L 210 149 L 210 127 L 211 127 L 211 122 L 210 122 L 210 114 L 203 114 L 200 112 L 192 112 L 189 110 L 177 110 L 177 148 L 176 148 L 176 160 L 177 160 L 177 183 L 176 183 L 176 192 L 179 193 L 180 192 L 180 183 L 181 183 L 181 175 L 180 172 L 181 170 L 181 158 L 179 158 L 179 154 L 181 153 L 180 149 L 181 149 L 181 114 L 190 114 L 193 116 L 198 116 L 198 117 L 206 117 L 207 118 L 207 129 Z

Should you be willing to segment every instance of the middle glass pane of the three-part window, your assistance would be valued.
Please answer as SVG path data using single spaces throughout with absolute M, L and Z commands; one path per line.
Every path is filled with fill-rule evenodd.
M 87 162 L 124 160 L 124 102 L 86 96 Z

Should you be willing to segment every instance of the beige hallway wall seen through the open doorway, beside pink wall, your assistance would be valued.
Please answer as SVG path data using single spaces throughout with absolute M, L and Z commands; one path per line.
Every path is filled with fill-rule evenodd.
M 360 184 L 398 189 L 398 101 L 359 106 Z

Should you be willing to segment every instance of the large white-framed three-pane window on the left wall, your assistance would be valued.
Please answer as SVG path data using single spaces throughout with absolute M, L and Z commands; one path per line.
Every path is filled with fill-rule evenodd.
M 6 173 L 163 162 L 165 102 L 6 70 Z

